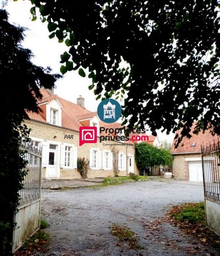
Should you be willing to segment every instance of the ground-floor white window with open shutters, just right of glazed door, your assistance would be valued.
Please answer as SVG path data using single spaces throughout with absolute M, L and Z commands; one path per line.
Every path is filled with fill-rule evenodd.
M 69 143 L 61 145 L 61 167 L 63 169 L 77 168 L 77 147 Z

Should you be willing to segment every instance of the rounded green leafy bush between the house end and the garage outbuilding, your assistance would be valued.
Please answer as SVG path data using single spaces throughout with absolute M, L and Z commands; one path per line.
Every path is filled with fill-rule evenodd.
M 135 157 L 136 163 L 141 170 L 160 164 L 171 166 L 173 163 L 173 156 L 170 154 L 170 151 L 156 148 L 145 142 L 136 144 Z

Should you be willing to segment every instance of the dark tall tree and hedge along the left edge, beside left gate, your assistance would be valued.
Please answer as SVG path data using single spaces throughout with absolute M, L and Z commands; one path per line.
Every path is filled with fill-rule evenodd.
M 52 88 L 60 75 L 33 65 L 32 53 L 21 44 L 24 28 L 11 25 L 5 10 L 0 10 L 0 77 L 6 81 L 1 91 L 2 138 L 0 145 L 0 252 L 11 252 L 13 217 L 18 211 L 19 190 L 27 173 L 26 161 L 19 150 L 21 139 L 28 140 L 29 129 L 22 124 L 28 111 L 38 111 L 39 86 Z M 35 97 L 33 96 L 35 95 Z

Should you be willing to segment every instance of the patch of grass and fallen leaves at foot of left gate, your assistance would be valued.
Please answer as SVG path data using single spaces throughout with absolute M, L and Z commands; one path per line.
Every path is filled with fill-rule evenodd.
M 47 243 L 49 242 L 49 235 L 44 231 L 39 230 L 21 246 L 21 248 L 16 251 L 16 256 L 32 255 L 36 252 L 45 252 L 47 248 Z

